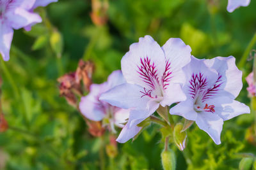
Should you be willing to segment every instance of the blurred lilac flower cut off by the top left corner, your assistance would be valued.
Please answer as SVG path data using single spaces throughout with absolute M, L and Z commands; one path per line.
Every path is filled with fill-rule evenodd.
M 20 29 L 42 22 L 42 18 L 31 11 L 34 5 L 47 4 L 43 0 L 1 0 L 0 1 L 0 53 L 4 60 L 10 59 L 13 29 Z M 48 1 L 47 1 L 48 2 Z

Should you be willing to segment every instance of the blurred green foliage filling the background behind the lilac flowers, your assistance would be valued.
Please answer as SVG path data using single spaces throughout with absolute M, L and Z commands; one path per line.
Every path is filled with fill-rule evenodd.
M 3 113 L 10 126 L 0 133 L 0 169 L 100 169 L 102 164 L 104 169 L 162 169 L 157 125 L 134 142 L 118 144 L 118 156 L 109 158 L 102 148 L 108 134 L 102 140 L 88 133 L 81 115 L 60 97 L 56 79 L 84 59 L 94 62 L 93 81 L 102 83 L 120 69 L 129 45 L 146 34 L 160 45 L 181 38 L 198 58 L 234 55 L 238 64 L 256 31 L 256 1 L 233 13 L 226 10 L 227 0 L 99 2 L 105 6 L 94 11 L 94 22 L 91 1 L 59 0 L 36 9 L 42 24 L 15 31 L 10 60 L 0 66 Z M 97 17 L 103 18 L 100 23 Z M 240 69 L 247 76 L 252 60 Z M 237 100 L 250 105 L 246 87 Z M 177 169 L 238 169 L 243 157 L 256 155 L 246 140 L 255 136 L 248 130 L 253 113 L 225 122 L 221 145 L 193 125 L 185 151 L 173 146 Z

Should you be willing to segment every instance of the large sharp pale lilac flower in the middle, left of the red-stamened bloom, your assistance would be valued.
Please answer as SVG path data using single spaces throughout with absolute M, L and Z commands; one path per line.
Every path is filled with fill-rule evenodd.
M 179 38 L 170 38 L 161 48 L 150 36 L 133 43 L 121 60 L 127 83 L 100 96 L 100 100 L 124 109 L 131 108 L 129 121 L 118 139 L 125 143 L 141 129 L 137 125 L 159 106 L 186 100 L 180 85 L 185 82 L 182 67 L 190 61 L 191 48 Z

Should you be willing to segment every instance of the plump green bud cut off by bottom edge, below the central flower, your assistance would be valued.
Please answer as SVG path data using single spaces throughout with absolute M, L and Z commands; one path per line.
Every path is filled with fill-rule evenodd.
M 164 170 L 175 170 L 176 158 L 172 150 L 164 150 L 161 153 L 162 165 Z

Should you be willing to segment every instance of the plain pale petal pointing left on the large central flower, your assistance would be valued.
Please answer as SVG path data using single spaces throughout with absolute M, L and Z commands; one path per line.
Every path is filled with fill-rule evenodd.
M 105 101 L 118 108 L 145 109 L 147 108 L 148 101 L 150 101 L 150 97 L 141 97 L 140 91 L 143 91 L 142 87 L 124 83 L 104 92 L 100 96 L 100 101 Z

